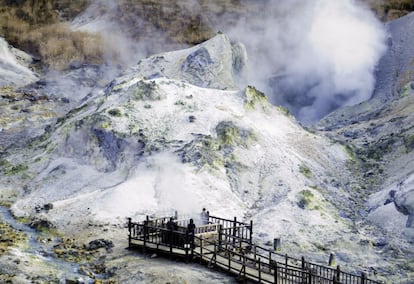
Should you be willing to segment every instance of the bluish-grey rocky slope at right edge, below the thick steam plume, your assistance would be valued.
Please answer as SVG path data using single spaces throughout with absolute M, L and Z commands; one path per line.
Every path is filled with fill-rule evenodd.
M 414 152 L 414 13 L 387 24 L 388 51 L 377 66 L 370 100 L 340 109 L 318 123 L 335 140 L 350 145 L 360 192 L 360 215 L 412 254 Z

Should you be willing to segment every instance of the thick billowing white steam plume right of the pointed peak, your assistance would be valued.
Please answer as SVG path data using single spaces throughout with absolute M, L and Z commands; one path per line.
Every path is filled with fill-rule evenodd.
M 250 79 L 275 104 L 310 123 L 370 98 L 386 32 L 353 0 L 267 1 L 259 15 L 227 28 L 253 62 Z

